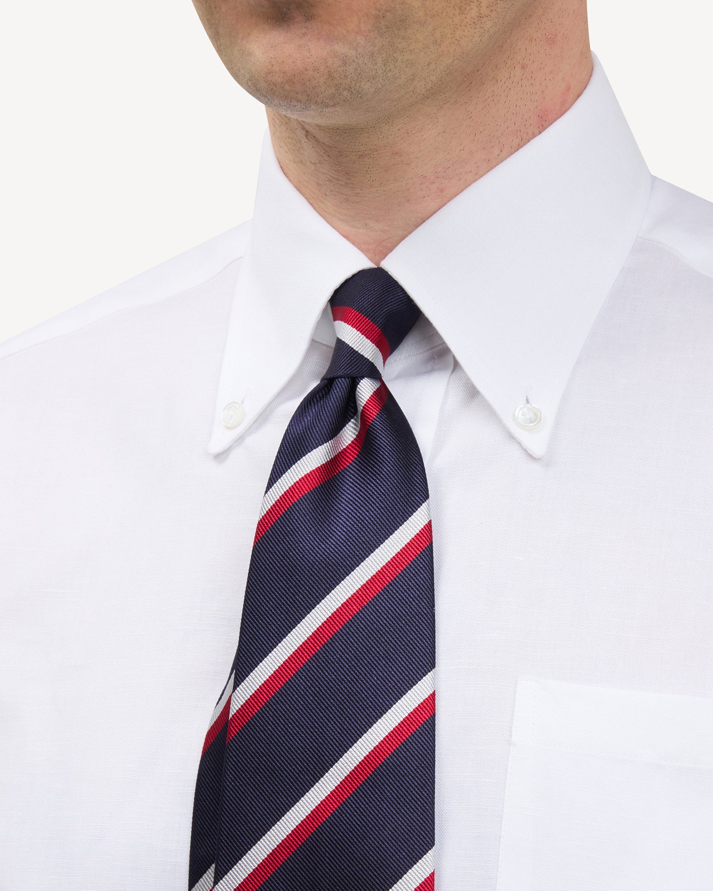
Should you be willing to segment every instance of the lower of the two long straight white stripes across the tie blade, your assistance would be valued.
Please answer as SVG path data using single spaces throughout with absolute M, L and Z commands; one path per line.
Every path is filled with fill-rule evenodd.
M 217 883 L 215 891 L 233 891 L 234 887 L 240 885 L 242 880 L 249 876 L 250 872 L 275 850 L 283 838 L 290 835 L 307 814 L 314 811 L 316 806 L 332 792 L 332 789 L 335 789 L 347 774 L 354 770 L 356 764 L 359 764 L 373 748 L 376 748 L 381 740 L 433 691 L 433 672 L 430 671 L 405 696 L 402 696 L 395 705 L 390 707 L 389 711 L 382 715 L 361 739 L 356 740 L 355 744 L 340 757 L 340 760 L 324 774 L 324 777 L 317 781 L 291 810 L 285 813 L 282 820 L 276 822 L 275 826 L 260 838 L 257 845 L 250 848 L 242 860 L 237 862 L 233 869 Z

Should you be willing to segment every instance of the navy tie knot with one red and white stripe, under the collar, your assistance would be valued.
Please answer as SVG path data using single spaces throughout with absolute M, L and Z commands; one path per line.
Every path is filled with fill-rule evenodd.
M 381 266 L 362 269 L 330 299 L 337 343 L 325 378 L 380 378 L 421 310 Z

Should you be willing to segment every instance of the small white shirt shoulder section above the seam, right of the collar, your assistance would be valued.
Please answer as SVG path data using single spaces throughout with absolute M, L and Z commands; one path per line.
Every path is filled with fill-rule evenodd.
M 673 251 L 696 272 L 713 278 L 713 203 L 653 177 L 639 237 Z

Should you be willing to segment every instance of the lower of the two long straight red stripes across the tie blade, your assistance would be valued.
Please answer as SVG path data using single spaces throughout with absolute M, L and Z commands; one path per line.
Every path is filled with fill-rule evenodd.
M 307 816 L 295 826 L 295 828 L 267 854 L 265 860 L 250 872 L 250 875 L 242 879 L 240 885 L 236 885 L 234 891 L 255 891 L 266 882 L 267 879 L 298 847 L 309 838 L 310 835 L 346 801 L 351 793 L 357 789 L 372 774 L 376 768 L 385 761 L 391 752 L 397 749 L 404 740 L 416 731 L 424 721 L 427 721 L 436 710 L 436 694 L 431 693 L 423 699 L 413 711 L 397 723 L 396 727 L 377 743 L 371 752 L 356 764 L 347 776 L 325 796 L 316 807 L 307 813 Z

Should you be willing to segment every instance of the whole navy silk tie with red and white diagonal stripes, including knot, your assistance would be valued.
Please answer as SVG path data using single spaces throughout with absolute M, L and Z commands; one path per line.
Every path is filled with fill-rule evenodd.
M 330 303 L 332 362 L 275 458 L 203 747 L 191 891 L 434 887 L 428 487 L 381 380 L 420 312 L 380 267 Z

